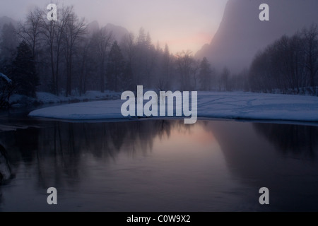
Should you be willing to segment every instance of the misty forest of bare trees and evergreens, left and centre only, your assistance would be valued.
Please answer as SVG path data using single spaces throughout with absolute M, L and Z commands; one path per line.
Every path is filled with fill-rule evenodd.
M 87 90 L 211 90 L 215 76 L 207 59 L 192 52 L 171 54 L 152 43 L 143 28 L 138 35 L 116 40 L 111 30 L 88 30 L 72 6 L 47 20 L 45 8 L 30 11 L 16 28 L 4 25 L 0 37 L 0 72 L 13 81 L 14 92 L 30 97 L 36 91 L 82 95 Z

